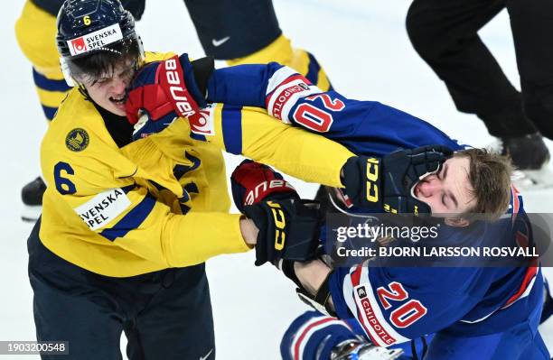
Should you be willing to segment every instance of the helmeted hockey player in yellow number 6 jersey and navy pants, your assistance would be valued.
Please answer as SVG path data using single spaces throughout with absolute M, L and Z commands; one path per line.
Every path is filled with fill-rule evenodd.
M 204 110 L 211 128 L 179 118 L 132 142 L 126 88 L 144 61 L 132 16 L 117 0 L 68 0 L 58 30 L 65 75 L 77 86 L 41 147 L 48 187 L 28 240 L 37 337 L 69 341 L 74 359 L 120 358 L 122 331 L 131 359 L 211 359 L 203 262 L 254 244 L 257 263 L 297 249 L 305 258 L 314 253 L 305 240 L 318 231 L 318 212 L 302 201 L 258 204 L 251 218 L 229 214 L 220 150 L 330 186 L 341 185 L 353 154 L 262 110 L 220 105 Z

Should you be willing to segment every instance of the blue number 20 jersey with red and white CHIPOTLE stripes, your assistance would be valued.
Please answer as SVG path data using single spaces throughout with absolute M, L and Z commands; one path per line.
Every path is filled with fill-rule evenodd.
M 323 134 L 351 152 L 382 156 L 398 148 L 463 145 L 433 125 L 374 101 L 351 100 L 323 92 L 293 69 L 276 63 L 216 70 L 208 84 L 209 100 L 265 107 L 291 125 Z M 450 231 L 444 241 L 473 246 L 490 244 L 501 234 L 511 245 L 531 235 L 520 233 L 522 198 L 514 187 L 509 212 L 493 225 Z M 516 224 L 520 224 L 516 222 Z M 334 307 L 354 333 L 379 346 L 392 346 L 438 331 L 476 336 L 528 323 L 537 332 L 542 277 L 538 263 L 524 267 L 372 267 L 361 263 L 337 268 L 330 278 Z M 439 281 L 437 281 L 439 280 Z

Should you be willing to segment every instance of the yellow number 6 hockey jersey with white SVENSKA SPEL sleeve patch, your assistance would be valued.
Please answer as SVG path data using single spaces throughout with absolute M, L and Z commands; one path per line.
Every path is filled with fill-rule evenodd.
M 119 148 L 94 104 L 72 89 L 42 140 L 42 243 L 114 277 L 248 251 L 240 215 L 229 214 L 221 150 L 341 186 L 340 169 L 353 155 L 342 145 L 263 109 L 216 104 L 202 114 L 201 125 L 178 118 Z

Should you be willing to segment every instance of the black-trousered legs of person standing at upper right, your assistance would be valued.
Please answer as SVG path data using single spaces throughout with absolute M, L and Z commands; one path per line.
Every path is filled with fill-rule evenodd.
M 478 35 L 507 9 L 520 74 L 518 91 Z M 501 140 L 501 149 L 528 175 L 520 185 L 548 185 L 549 152 L 541 135 L 553 138 L 553 6 L 548 1 L 415 0 L 407 16 L 409 38 L 445 82 L 460 111 L 480 117 Z M 539 171 L 541 170 L 541 171 Z M 530 180 L 530 181 L 529 181 Z

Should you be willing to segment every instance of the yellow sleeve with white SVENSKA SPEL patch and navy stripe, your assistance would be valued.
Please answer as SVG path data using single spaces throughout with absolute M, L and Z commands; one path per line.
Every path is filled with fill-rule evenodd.
M 94 168 L 94 162 L 88 161 L 87 167 Z M 102 188 L 102 181 L 87 176 L 88 172 L 73 164 L 70 171 L 61 172 L 65 184 L 60 189 L 56 189 L 59 180 L 58 184 L 52 178 L 47 181 L 53 182 L 49 195 L 61 200 L 52 201 L 58 208 L 55 213 L 65 214 L 58 221 L 80 229 L 80 234 L 95 242 L 101 244 L 103 239 L 109 242 L 106 244 L 159 263 L 161 268 L 189 266 L 218 254 L 249 250 L 240 232 L 240 215 L 196 212 L 193 208 L 182 215 L 173 211 L 172 204 L 156 198 L 154 188 L 132 178 L 127 183 L 112 180 L 113 188 Z

